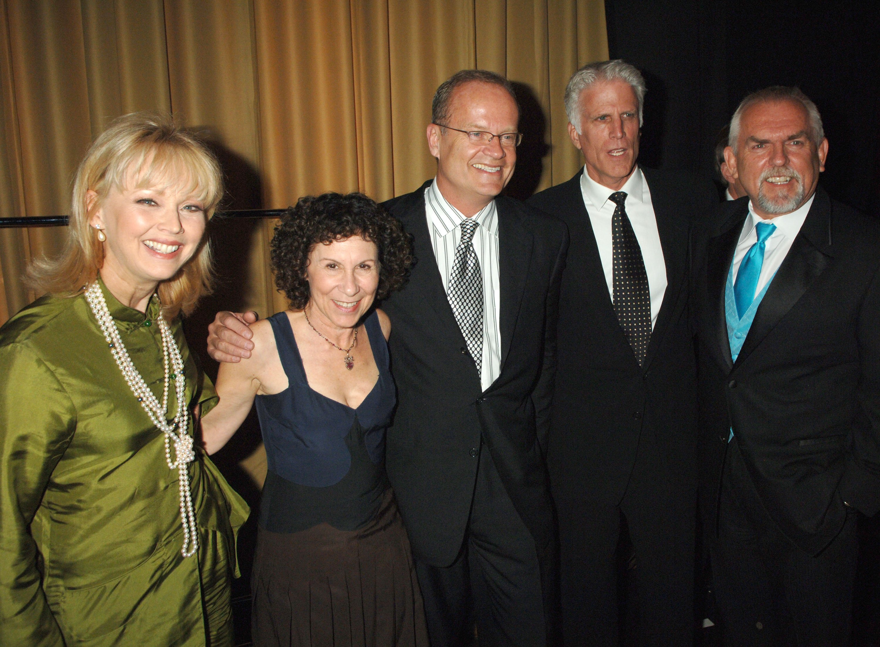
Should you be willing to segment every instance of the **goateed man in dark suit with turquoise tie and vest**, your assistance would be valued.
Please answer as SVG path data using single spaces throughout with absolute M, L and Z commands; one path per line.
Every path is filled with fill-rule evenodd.
M 849 643 L 855 511 L 880 509 L 880 226 L 818 187 L 796 88 L 744 98 L 746 197 L 695 246 L 700 496 L 725 643 Z

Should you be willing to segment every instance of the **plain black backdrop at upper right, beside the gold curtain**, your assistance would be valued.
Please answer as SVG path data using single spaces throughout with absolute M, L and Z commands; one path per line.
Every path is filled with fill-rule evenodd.
M 821 183 L 880 216 L 880 3 L 605 0 L 608 47 L 648 84 L 640 161 L 714 177 L 720 128 L 744 96 L 797 85 L 830 142 Z

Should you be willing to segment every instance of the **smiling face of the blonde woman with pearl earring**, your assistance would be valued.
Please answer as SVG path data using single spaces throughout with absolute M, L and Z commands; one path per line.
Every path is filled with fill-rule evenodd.
M 86 193 L 89 223 L 106 235 L 101 278 L 122 302 L 171 279 L 192 258 L 205 232 L 204 202 L 187 181 L 139 186 L 136 171 L 104 200 Z

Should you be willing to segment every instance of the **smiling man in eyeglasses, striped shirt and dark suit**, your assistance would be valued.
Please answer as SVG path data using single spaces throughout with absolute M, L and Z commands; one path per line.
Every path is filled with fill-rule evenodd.
M 436 178 L 385 203 L 417 261 L 382 304 L 398 389 L 385 465 L 433 647 L 471 645 L 475 633 L 481 645 L 556 644 L 543 450 L 568 233 L 499 196 L 518 120 L 507 79 L 458 72 L 437 89 L 427 128 Z M 223 313 L 217 322 L 212 356 L 243 356 L 233 345 L 244 340 L 219 324 L 243 326 Z

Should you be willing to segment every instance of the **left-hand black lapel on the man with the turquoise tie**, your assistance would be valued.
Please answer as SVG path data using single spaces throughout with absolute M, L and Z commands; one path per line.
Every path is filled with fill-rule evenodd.
M 748 214 L 748 202 L 737 213 L 730 217 L 725 225 L 727 229 L 715 238 L 710 238 L 706 249 L 706 312 L 712 331 L 709 338 L 715 338 L 711 345 L 716 351 L 715 359 L 728 371 L 733 367 L 730 356 L 730 338 L 727 335 L 727 316 L 724 308 L 724 289 L 727 287 L 727 275 L 737 251 L 739 235 L 743 231 L 745 216 Z

